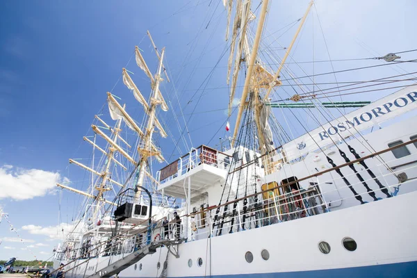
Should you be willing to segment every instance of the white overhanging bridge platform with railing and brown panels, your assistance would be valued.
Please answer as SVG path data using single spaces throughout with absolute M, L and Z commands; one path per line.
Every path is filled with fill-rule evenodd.
M 207 186 L 224 183 L 231 158 L 228 154 L 204 145 L 193 148 L 188 154 L 158 171 L 158 190 L 183 199 L 189 195 L 193 200 L 204 194 Z

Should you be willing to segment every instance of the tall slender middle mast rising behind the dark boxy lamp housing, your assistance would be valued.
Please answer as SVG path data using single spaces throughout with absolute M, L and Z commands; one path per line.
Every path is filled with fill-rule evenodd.
M 165 54 L 165 47 L 161 51 L 161 57 L 159 59 L 159 65 L 158 65 L 158 72 L 155 75 L 155 81 L 154 81 L 154 88 L 152 90 L 152 97 L 151 97 L 151 103 L 149 104 L 149 117 L 147 121 L 147 127 L 146 127 L 146 133 L 145 133 L 145 145 L 143 149 L 138 148 L 138 152 L 142 154 L 142 157 L 140 158 L 139 163 L 139 174 L 138 174 L 138 181 L 136 181 L 136 193 L 135 198 L 139 199 L 140 194 L 142 193 L 142 190 L 140 186 L 142 186 L 143 179 L 146 174 L 146 167 L 147 167 L 147 158 L 151 155 L 149 150 L 152 147 L 152 133 L 154 133 L 154 123 L 155 123 L 155 113 L 156 113 L 156 106 L 158 104 L 161 104 L 161 100 L 158 99 L 158 91 L 159 91 L 159 83 L 161 82 L 161 70 L 163 67 L 163 56 Z M 145 151 L 142 151 L 145 150 Z

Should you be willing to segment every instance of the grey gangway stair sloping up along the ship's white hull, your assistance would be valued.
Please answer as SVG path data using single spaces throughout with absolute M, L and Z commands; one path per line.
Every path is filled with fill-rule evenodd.
M 124 258 L 115 261 L 111 265 L 106 266 L 106 268 L 102 268 L 101 270 L 95 272 L 95 274 L 88 276 L 87 278 L 108 278 L 112 277 L 113 275 L 118 275 L 119 272 L 129 268 L 129 266 L 137 263 L 141 259 L 143 259 L 147 254 L 154 254 L 158 247 L 163 245 L 167 246 L 168 250 L 170 250 L 171 245 L 179 245 L 182 240 L 158 240 L 149 245 L 146 245 L 138 250 L 132 252 L 131 254 L 125 256 Z M 174 254 L 174 253 L 172 253 Z M 178 256 L 178 254 L 174 254 L 174 256 Z

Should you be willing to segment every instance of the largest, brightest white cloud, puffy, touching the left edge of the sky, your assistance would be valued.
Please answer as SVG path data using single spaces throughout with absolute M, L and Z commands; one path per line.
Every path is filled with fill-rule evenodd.
M 24 200 L 44 196 L 56 188 L 56 183 L 67 180 L 58 172 L 3 165 L 0 167 L 0 199 Z

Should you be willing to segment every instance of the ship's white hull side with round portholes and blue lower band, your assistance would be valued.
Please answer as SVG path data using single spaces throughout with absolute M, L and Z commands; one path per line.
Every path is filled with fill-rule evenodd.
M 119 277 L 159 277 L 166 257 L 167 277 L 416 277 L 416 199 L 417 192 L 413 192 L 183 243 L 179 245 L 178 259 L 172 254 L 167 256 L 167 248 L 162 247 L 120 272 Z M 342 245 L 347 236 L 357 242 L 354 252 Z M 322 240 L 331 246 L 329 254 L 319 251 L 318 243 Z M 268 250 L 268 261 L 262 259 L 262 250 Z M 248 251 L 254 256 L 252 263 L 245 261 Z M 88 264 L 67 272 L 67 276 L 92 275 L 106 266 L 110 258 L 90 259 Z M 198 258 L 203 260 L 201 267 L 197 265 Z M 189 259 L 193 261 L 191 267 Z M 117 256 L 112 261 L 117 261 Z

